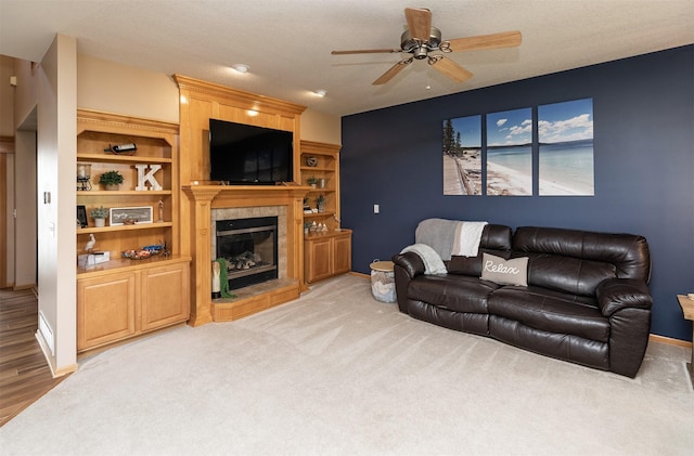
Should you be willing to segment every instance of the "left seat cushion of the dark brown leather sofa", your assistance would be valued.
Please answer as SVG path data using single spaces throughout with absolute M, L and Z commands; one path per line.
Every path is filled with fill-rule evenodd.
M 487 299 L 499 288 L 464 275 L 420 275 L 408 286 L 408 298 L 454 312 L 487 313 Z

